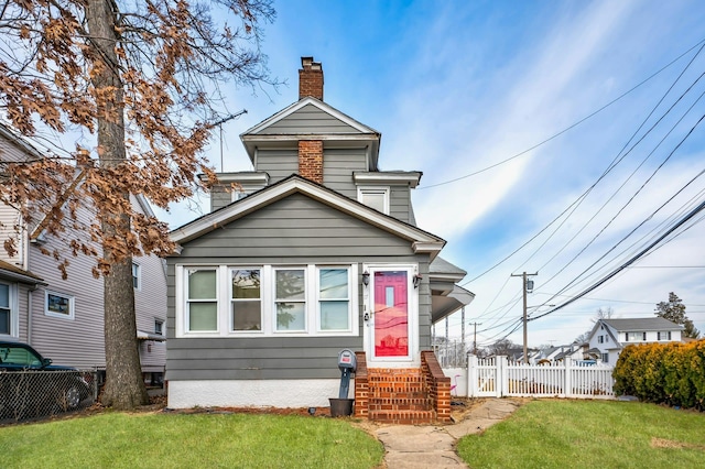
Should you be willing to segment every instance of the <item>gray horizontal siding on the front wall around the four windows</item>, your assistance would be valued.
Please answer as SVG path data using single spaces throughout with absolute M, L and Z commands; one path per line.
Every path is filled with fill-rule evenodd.
M 419 263 L 423 274 L 429 263 L 427 254 L 414 254 L 411 241 L 303 194 L 184 243 L 181 254 L 167 262 L 169 380 L 339 378 L 337 355 L 344 348 L 361 350 L 365 327 L 360 317 L 359 334 L 352 337 L 175 338 L 175 264 L 356 263 L 361 268 L 365 262 Z M 362 288 L 358 295 L 359 317 Z M 424 296 L 420 297 L 420 345 L 427 349 L 431 309 Z

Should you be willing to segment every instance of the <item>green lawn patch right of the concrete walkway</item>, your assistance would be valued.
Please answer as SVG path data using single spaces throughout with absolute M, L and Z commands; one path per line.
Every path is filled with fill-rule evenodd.
M 705 414 L 637 402 L 536 400 L 458 441 L 480 468 L 702 468 Z

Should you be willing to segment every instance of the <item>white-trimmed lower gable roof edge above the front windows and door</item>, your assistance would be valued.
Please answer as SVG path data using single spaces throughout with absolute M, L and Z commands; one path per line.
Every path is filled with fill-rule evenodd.
M 445 240 L 435 234 L 377 211 L 373 208 L 345 197 L 335 190 L 299 176 L 297 174 L 292 174 L 276 184 L 264 187 L 248 197 L 234 201 L 216 211 L 204 215 L 176 228 L 170 236 L 172 241 L 176 243 L 188 242 L 276 200 L 286 198 L 292 194 L 303 194 L 371 226 L 405 239 L 412 242 L 414 252 L 429 253 L 431 260 L 433 260 L 445 246 Z

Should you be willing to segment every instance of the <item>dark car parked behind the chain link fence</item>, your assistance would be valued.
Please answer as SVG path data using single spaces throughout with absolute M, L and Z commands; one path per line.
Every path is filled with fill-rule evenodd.
M 26 343 L 0 341 L 0 418 L 75 410 L 90 395 L 77 369 L 52 364 Z

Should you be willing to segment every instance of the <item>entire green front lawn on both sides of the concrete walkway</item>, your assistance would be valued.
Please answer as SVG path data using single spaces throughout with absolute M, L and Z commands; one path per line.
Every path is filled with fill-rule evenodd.
M 0 428 L 6 468 L 375 468 L 382 445 L 347 419 L 106 413 Z M 705 413 L 536 400 L 458 441 L 480 468 L 701 468 Z

